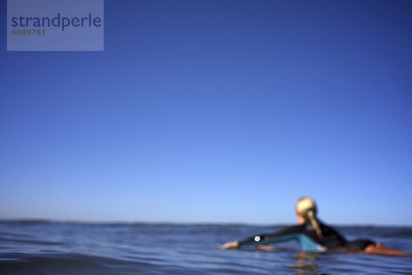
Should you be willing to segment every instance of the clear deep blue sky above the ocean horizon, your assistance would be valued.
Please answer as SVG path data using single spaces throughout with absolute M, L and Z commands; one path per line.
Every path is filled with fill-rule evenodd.
M 6 52 L 0 218 L 412 225 L 411 1 L 104 1 Z

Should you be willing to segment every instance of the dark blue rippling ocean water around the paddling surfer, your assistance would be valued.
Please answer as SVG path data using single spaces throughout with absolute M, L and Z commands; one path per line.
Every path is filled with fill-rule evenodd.
M 280 226 L 0 221 L 0 274 L 412 274 L 412 258 L 220 250 Z M 412 253 L 411 227 L 337 227 Z

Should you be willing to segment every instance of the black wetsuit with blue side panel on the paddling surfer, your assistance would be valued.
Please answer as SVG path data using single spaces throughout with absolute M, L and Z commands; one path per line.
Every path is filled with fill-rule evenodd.
M 279 243 L 282 241 L 297 240 L 302 250 L 305 251 L 325 251 L 345 249 L 349 251 L 362 251 L 370 245 L 374 244 L 369 240 L 346 241 L 346 239 L 336 232 L 333 228 L 319 222 L 323 238 L 319 238 L 312 225 L 304 223 L 302 225 L 295 225 L 285 228 L 273 234 L 262 234 L 253 236 L 249 239 L 239 242 L 239 247 L 247 245 L 265 245 L 268 243 Z

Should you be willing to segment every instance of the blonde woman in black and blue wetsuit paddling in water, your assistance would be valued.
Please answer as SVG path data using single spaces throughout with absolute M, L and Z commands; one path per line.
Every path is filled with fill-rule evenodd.
M 302 197 L 296 204 L 296 219 L 299 225 L 290 226 L 280 232 L 253 236 L 244 241 L 232 241 L 222 245 L 222 249 L 253 246 L 271 250 L 268 243 L 297 240 L 304 251 L 363 252 L 389 256 L 409 256 L 400 250 L 385 248 L 370 240 L 347 241 L 334 228 L 325 225 L 317 218 L 316 203 L 310 197 Z

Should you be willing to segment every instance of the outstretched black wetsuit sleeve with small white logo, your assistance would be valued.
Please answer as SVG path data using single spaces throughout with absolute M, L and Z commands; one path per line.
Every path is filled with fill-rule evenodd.
M 298 239 L 299 233 L 304 233 L 304 230 L 304 226 L 302 225 L 290 226 L 273 234 L 262 234 L 244 239 L 239 242 L 239 247 L 242 248 L 249 245 L 266 245 L 268 243 L 279 243 L 282 241 Z

